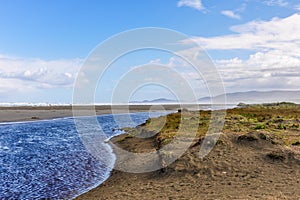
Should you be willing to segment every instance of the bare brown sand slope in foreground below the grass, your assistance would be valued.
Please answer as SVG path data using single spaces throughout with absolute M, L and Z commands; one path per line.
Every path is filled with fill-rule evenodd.
M 247 134 L 258 138 L 253 141 L 222 134 L 224 143 L 204 159 L 195 143 L 164 172 L 113 171 L 103 185 L 78 199 L 299 199 L 299 154 L 260 134 L 265 135 Z

